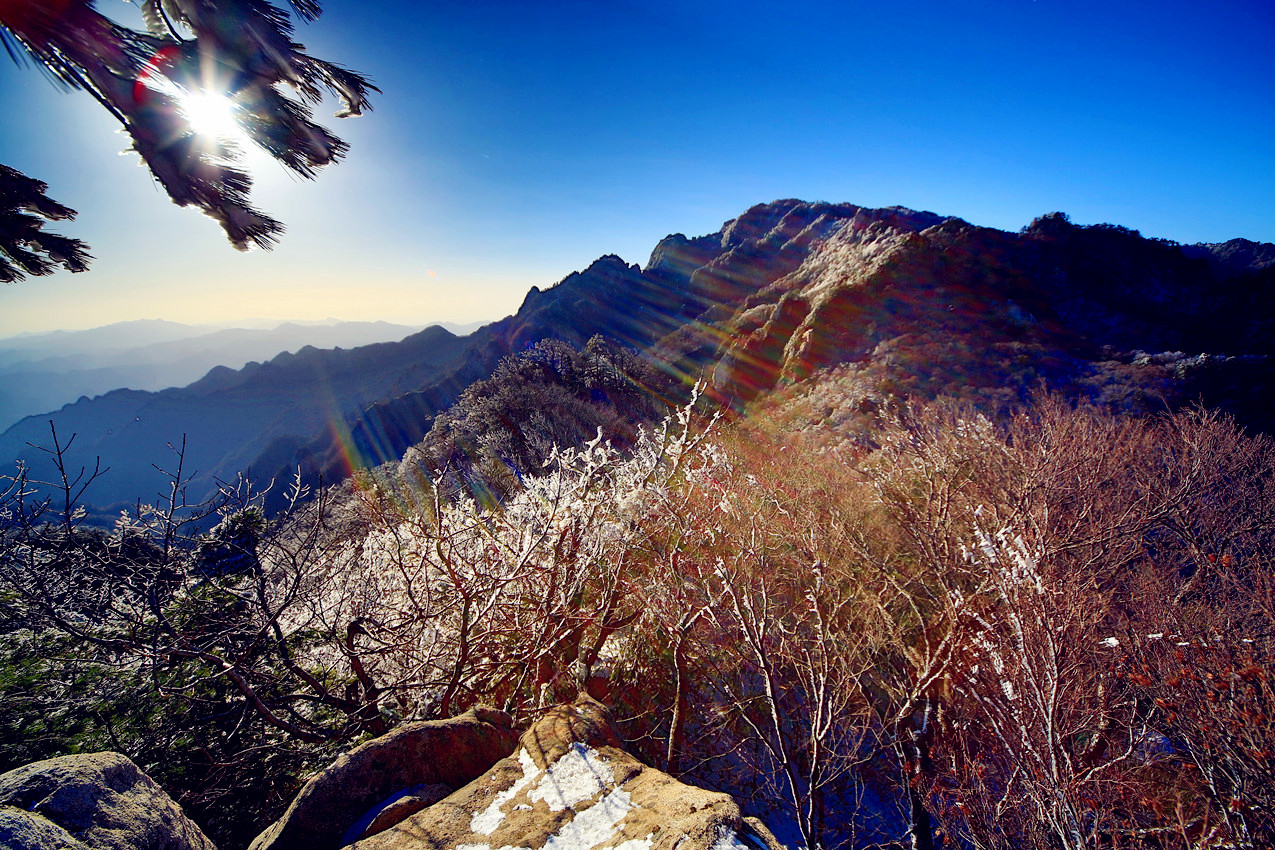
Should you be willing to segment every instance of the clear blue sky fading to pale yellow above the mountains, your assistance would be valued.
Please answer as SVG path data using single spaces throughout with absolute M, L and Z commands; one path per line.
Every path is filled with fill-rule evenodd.
M 316 181 L 254 157 L 273 252 L 232 250 L 88 97 L 0 57 L 0 162 L 78 209 L 60 231 L 97 257 L 0 287 L 0 336 L 496 319 L 778 198 L 1275 241 L 1270 0 L 329 0 L 297 38 L 384 94 L 328 121 L 351 153 Z

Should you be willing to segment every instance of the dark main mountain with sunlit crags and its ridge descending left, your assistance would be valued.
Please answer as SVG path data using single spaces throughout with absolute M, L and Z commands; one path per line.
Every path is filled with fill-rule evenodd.
M 352 450 L 395 461 L 500 358 L 593 334 L 683 385 L 710 377 L 729 404 L 849 363 L 870 407 L 956 393 L 996 408 L 1044 386 L 1142 412 L 1202 398 L 1265 427 L 1272 260 L 1262 243 L 1182 247 L 1061 214 L 1006 233 L 904 208 L 761 204 L 667 237 L 645 269 L 608 256 L 533 289 L 473 335 L 463 368 L 371 405 L 343 443 L 284 441 L 258 468 L 333 480 Z

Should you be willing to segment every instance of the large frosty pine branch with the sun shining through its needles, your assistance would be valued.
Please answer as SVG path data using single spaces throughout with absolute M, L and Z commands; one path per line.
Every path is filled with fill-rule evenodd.
M 15 61 L 32 59 L 113 115 L 175 204 L 217 219 L 237 249 L 270 247 L 283 224 L 249 204 L 252 181 L 235 164 L 235 144 L 196 131 L 193 120 L 221 110 L 275 159 L 314 177 L 348 145 L 311 120 L 312 106 L 330 92 L 344 103 L 338 117 L 361 115 L 379 89 L 305 54 L 288 13 L 266 0 L 138 5 L 145 32 L 102 15 L 93 0 L 0 0 L 0 41 Z M 292 8 L 302 20 L 320 13 L 315 0 Z

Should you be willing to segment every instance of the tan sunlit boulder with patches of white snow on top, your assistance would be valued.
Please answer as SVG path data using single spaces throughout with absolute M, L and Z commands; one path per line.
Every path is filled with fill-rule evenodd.
M 518 752 L 357 850 L 778 850 L 731 796 L 683 785 L 620 748 L 586 696 L 523 734 Z

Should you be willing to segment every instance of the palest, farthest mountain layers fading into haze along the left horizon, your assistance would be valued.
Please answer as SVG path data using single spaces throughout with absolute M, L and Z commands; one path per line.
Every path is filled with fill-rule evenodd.
M 479 324 L 444 326 L 464 335 Z M 240 368 L 303 345 L 354 348 L 395 342 L 418 330 L 419 325 L 384 321 L 215 328 L 140 320 L 0 339 L 0 428 L 80 396 L 185 386 L 214 366 Z

